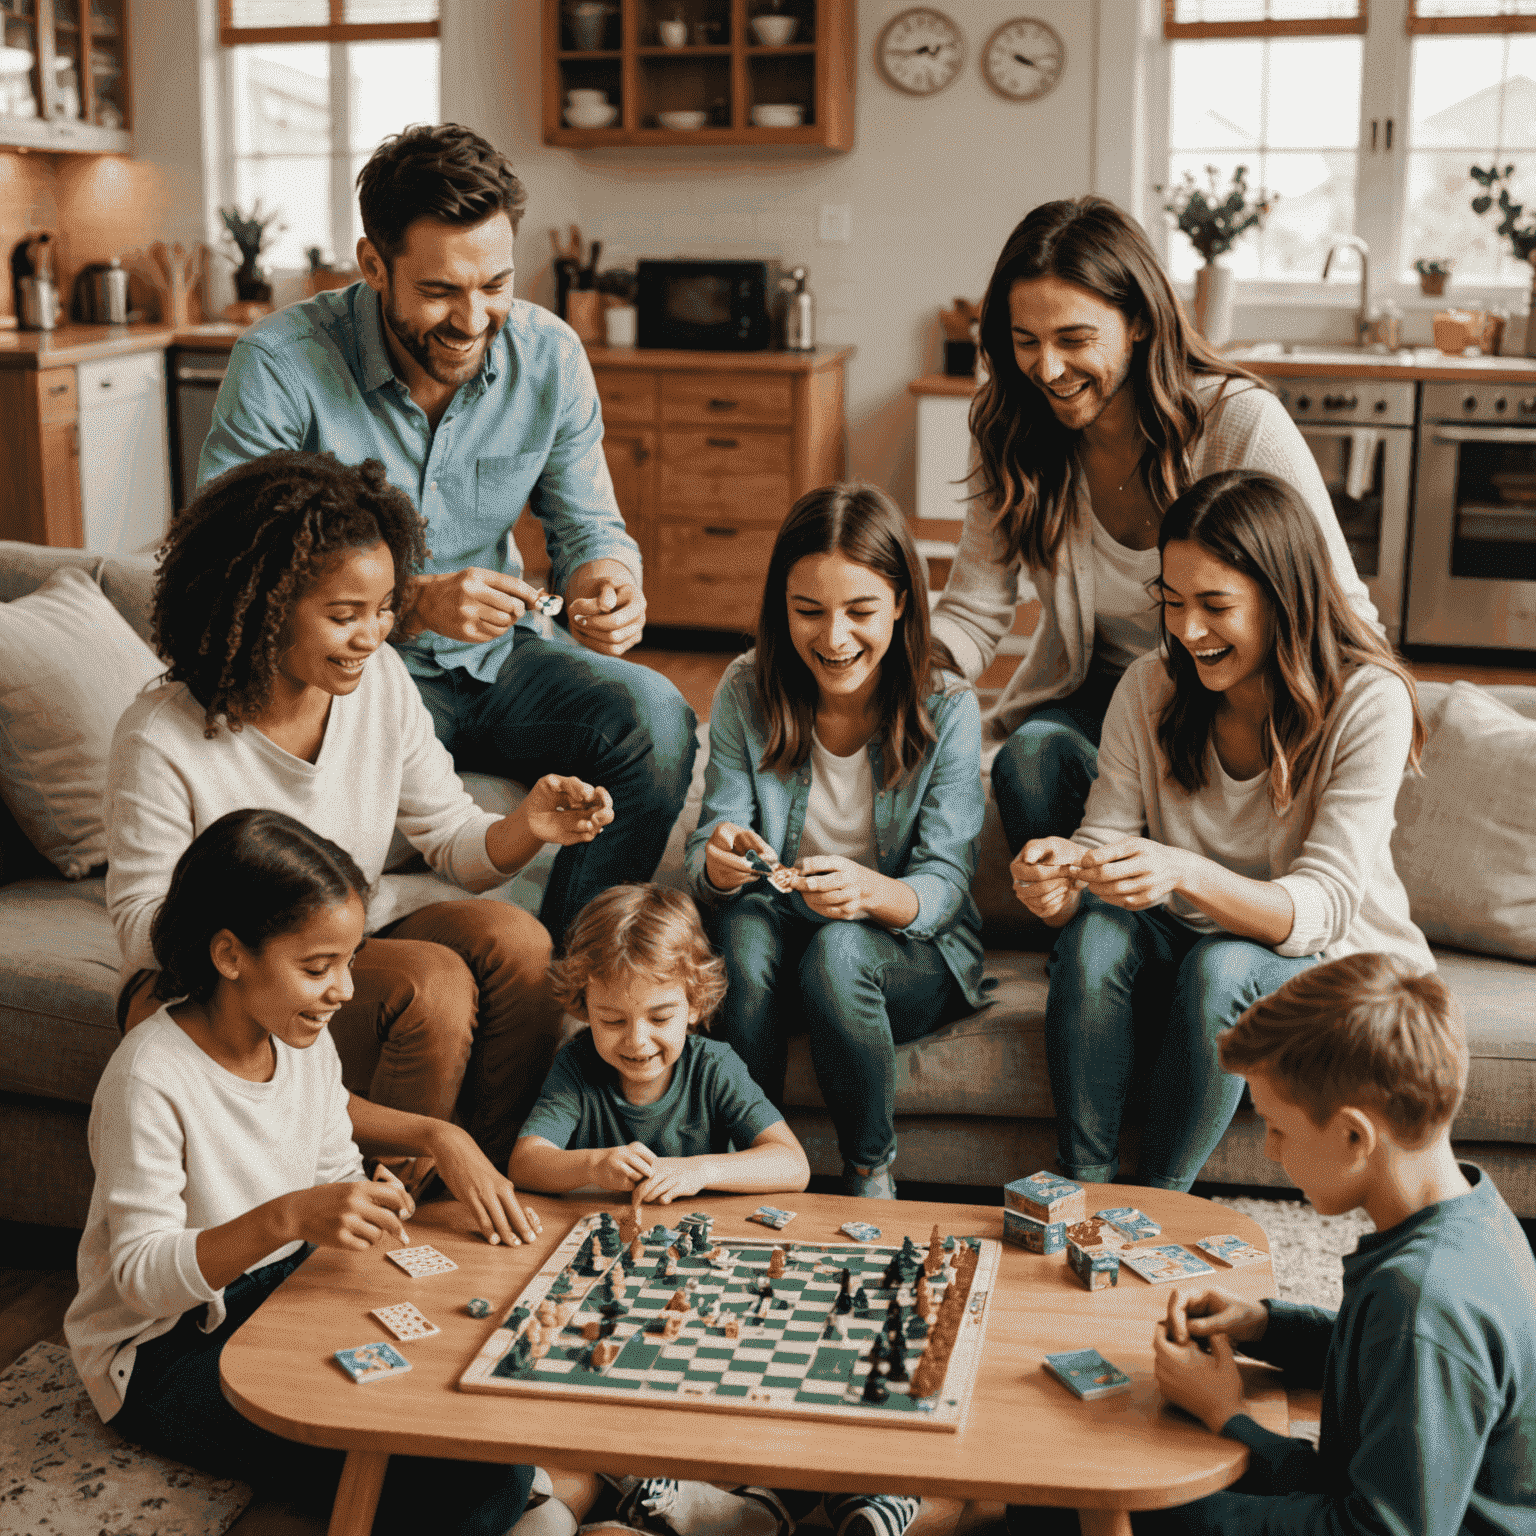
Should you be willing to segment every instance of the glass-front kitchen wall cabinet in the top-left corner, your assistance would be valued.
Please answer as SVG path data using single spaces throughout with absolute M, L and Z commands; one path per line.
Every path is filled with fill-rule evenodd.
M 0 0 L 0 144 L 131 147 L 129 0 Z

